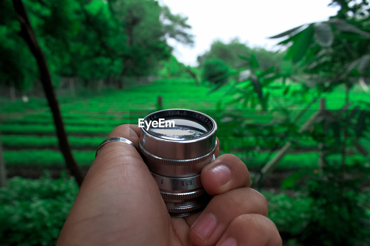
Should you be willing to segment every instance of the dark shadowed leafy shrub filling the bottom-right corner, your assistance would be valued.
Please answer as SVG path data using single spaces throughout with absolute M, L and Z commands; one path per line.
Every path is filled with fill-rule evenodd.
M 307 172 L 300 171 L 290 178 L 286 188 L 307 193 L 312 200 L 310 214 L 299 241 L 305 245 L 369 245 L 369 192 L 361 185 L 370 177 L 369 160 L 361 156 L 326 160 L 322 171 L 309 175 L 307 186 L 295 185 L 295 180 Z

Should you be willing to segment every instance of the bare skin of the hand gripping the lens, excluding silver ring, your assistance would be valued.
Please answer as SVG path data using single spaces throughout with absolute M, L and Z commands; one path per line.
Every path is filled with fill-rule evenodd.
M 138 147 L 139 136 L 137 125 L 121 125 L 108 137 L 124 137 Z M 215 167 L 228 172 L 220 178 L 212 171 Z M 267 218 L 266 199 L 249 188 L 248 169 L 238 157 L 219 156 L 203 168 L 201 181 L 214 196 L 206 208 L 190 216 L 170 217 L 135 148 L 107 143 L 81 185 L 57 246 L 282 245 L 275 224 Z

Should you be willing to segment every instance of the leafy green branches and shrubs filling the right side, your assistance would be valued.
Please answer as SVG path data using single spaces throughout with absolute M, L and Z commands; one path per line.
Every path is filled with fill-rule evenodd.
M 221 116 L 226 119 L 220 123 L 220 127 L 228 129 L 225 131 L 233 136 L 255 137 L 256 142 L 262 137 L 260 146 L 270 148 L 270 153 L 285 143 L 290 144 L 292 139 L 311 137 L 316 141 L 320 154 L 312 160 L 319 162 L 314 169 L 316 175 L 312 175 L 312 169 L 305 170 L 283 183 L 284 188 L 289 187 L 289 183 L 292 188 L 296 181 L 308 179 L 302 188 L 310 201 L 304 213 L 307 221 L 297 219 L 297 227 L 289 230 L 291 236 L 295 235 L 306 245 L 369 245 L 370 235 L 364 229 L 369 227 L 370 221 L 366 211 L 369 207 L 364 203 L 369 195 L 364 195 L 364 188 L 360 186 L 369 178 L 369 159 L 356 155 L 360 148 L 354 147 L 369 135 L 369 104 L 350 103 L 349 100 L 350 89 L 357 83 L 363 86 L 370 75 L 370 15 L 368 4 L 366 8 L 363 5 L 355 6 L 365 13 L 362 16 L 347 14 L 343 18 L 339 14 L 329 21 L 302 25 L 273 37 L 287 37 L 280 44 L 290 45 L 285 59 L 300 66 L 299 73 L 262 69 L 253 53 L 240 56 L 247 61 L 250 73 L 229 90 L 232 103 L 238 103 L 240 109 L 257 109 L 256 115 L 271 114 L 273 119 L 268 123 L 258 122 L 246 117 L 248 114 L 228 110 Z M 330 110 L 322 109 L 309 120 L 304 117 L 305 124 L 299 124 L 307 110 L 318 109 L 317 104 L 313 107 L 318 98 L 329 98 L 339 86 L 346 88 L 346 96 L 340 104 L 334 107 L 328 99 Z M 292 105 L 293 98 L 308 102 L 299 113 L 290 110 L 296 108 Z M 362 154 L 368 155 L 367 147 L 364 146 Z M 265 163 L 272 160 L 272 155 L 267 156 Z M 305 157 L 297 160 L 304 161 Z M 259 170 L 263 174 L 266 168 L 272 171 L 270 167 L 279 165 L 261 166 Z

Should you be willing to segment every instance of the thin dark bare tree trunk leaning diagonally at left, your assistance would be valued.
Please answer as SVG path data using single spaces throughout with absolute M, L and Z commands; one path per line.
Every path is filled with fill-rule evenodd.
M 43 85 L 44 93 L 46 95 L 51 112 L 53 113 L 54 124 L 59 140 L 59 147 L 64 156 L 66 166 L 68 170 L 70 170 L 71 175 L 73 175 L 76 179 L 78 185 L 81 185 L 84 175 L 80 167 L 78 167 L 76 161 L 74 160 L 71 147 L 68 143 L 67 133 L 64 129 L 58 100 L 55 96 L 53 84 L 51 83 L 51 76 L 49 68 L 47 66 L 46 58 L 40 45 L 38 45 L 36 35 L 33 31 L 33 28 L 31 27 L 26 9 L 24 8 L 22 1 L 13 0 L 13 5 L 17 13 L 18 20 L 21 24 L 20 36 L 24 39 L 24 41 L 26 41 L 37 62 L 38 71 L 40 73 L 40 81 Z

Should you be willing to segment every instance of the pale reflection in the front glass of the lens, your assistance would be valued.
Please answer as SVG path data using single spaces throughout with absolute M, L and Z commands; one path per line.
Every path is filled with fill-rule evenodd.
M 149 127 L 148 131 L 156 137 L 168 140 L 192 140 L 205 136 L 208 130 L 202 124 L 193 120 L 184 118 L 166 118 L 173 120 L 173 124 L 167 124 L 167 127 Z M 170 126 L 169 126 L 170 125 Z

